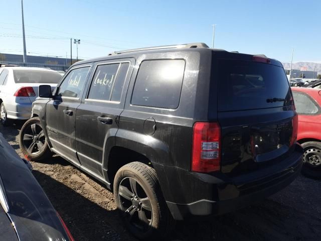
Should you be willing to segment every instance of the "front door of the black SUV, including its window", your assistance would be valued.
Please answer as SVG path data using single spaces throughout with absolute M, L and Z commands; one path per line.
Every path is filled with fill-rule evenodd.
M 90 65 L 71 69 L 47 103 L 47 132 L 55 153 L 80 166 L 76 154 L 75 119 L 76 108 L 84 92 Z

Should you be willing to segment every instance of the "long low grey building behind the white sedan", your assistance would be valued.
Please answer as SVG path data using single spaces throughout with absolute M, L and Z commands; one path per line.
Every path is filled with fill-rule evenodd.
M 51 68 L 54 70 L 66 70 L 70 67 L 70 58 L 58 58 L 49 56 L 27 56 L 27 63 L 24 64 L 23 55 L 20 54 L 2 54 L 0 53 L 0 62 L 15 64 L 26 67 Z M 76 62 L 75 59 L 72 62 Z

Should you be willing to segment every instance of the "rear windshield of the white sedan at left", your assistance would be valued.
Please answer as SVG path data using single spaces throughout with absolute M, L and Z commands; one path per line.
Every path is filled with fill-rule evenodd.
M 61 79 L 57 72 L 42 70 L 14 70 L 14 79 L 16 83 L 43 83 L 57 84 Z

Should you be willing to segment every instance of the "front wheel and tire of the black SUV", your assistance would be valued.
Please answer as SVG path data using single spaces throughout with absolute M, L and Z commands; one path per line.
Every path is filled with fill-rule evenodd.
M 28 160 L 39 161 L 53 155 L 40 125 L 39 117 L 28 119 L 21 128 L 19 139 L 20 150 Z

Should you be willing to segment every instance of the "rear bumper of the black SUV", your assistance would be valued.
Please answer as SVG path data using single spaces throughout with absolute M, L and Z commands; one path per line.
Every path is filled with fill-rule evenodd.
M 167 199 L 168 207 L 175 219 L 183 220 L 195 215 L 219 215 L 258 202 L 283 189 L 298 176 L 302 153 L 303 149 L 296 145 L 291 156 L 281 163 L 236 178 L 189 172 L 188 179 L 184 180 L 187 188 L 184 186 L 185 191 L 176 189 L 175 192 L 181 194 L 172 193 L 171 198 L 176 201 Z M 181 180 L 182 176 L 179 174 Z M 175 185 L 171 183 L 173 188 Z M 184 199 L 192 201 L 184 202 Z

